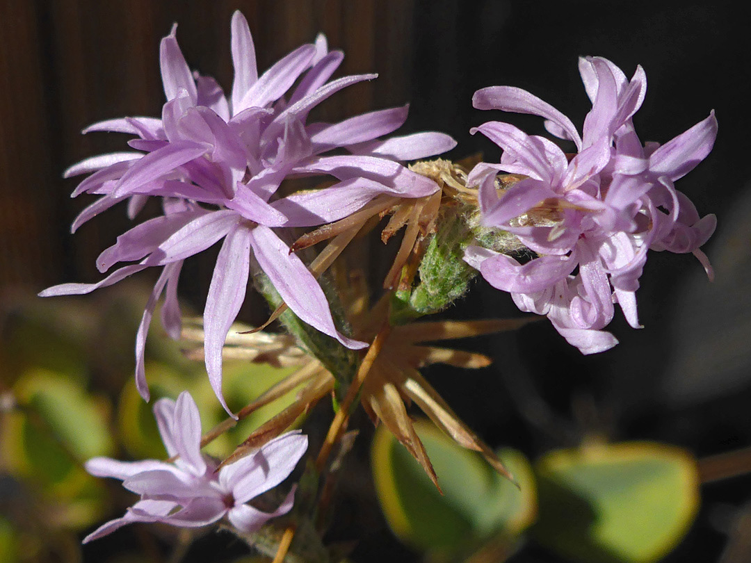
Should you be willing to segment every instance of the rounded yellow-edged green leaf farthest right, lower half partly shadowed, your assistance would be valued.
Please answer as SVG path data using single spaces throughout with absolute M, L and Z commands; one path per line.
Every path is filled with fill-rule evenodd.
M 666 444 L 559 450 L 535 470 L 535 536 L 575 561 L 657 561 L 680 542 L 698 509 L 695 459 Z

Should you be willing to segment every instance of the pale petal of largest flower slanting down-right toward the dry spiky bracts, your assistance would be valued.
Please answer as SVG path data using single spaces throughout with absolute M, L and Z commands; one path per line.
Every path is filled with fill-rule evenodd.
M 318 281 L 289 247 L 273 231 L 259 225 L 252 231 L 250 244 L 255 259 L 269 276 L 276 291 L 292 312 L 322 333 L 339 340 L 347 348 L 366 348 L 365 342 L 349 339 L 334 325 L 328 302 Z

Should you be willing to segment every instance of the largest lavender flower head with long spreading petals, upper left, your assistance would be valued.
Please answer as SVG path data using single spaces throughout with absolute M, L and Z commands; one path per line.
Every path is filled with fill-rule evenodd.
M 213 78 L 190 71 L 175 32 L 173 28 L 161 41 L 161 78 L 167 97 L 161 119 L 126 117 L 91 125 L 84 132 L 136 135 L 128 142 L 134 151 L 88 158 L 66 173 L 91 173 L 74 196 L 101 196 L 76 218 L 73 230 L 122 200 L 128 200 L 128 213 L 134 218 L 149 197 L 159 197 L 163 214 L 123 233 L 97 260 L 101 272 L 116 263 L 130 264 L 98 283 L 59 285 L 41 295 L 85 294 L 160 266 L 136 339 L 136 383 L 148 399 L 143 351 L 156 303 L 164 293 L 162 323 L 177 338 L 181 317 L 176 287 L 182 263 L 223 240 L 204 327 L 207 372 L 227 408 L 222 397 L 222 345 L 240 311 L 252 269 L 260 268 L 267 275 L 302 321 L 348 348 L 366 346 L 339 333 L 315 275 L 290 251 L 279 227 L 336 221 L 382 194 L 406 198 L 433 194 L 439 189 L 436 182 L 398 161 L 444 152 L 456 143 L 448 135 L 431 132 L 379 140 L 403 124 L 407 107 L 334 124 L 308 123 L 310 110 L 321 101 L 375 78 L 363 74 L 329 81 L 343 55 L 329 51 L 322 35 L 259 77 L 248 24 L 236 12 L 231 25 L 234 83 L 227 98 Z M 338 148 L 349 154 L 326 154 Z M 338 182 L 286 197 L 279 193 L 288 176 L 321 174 Z

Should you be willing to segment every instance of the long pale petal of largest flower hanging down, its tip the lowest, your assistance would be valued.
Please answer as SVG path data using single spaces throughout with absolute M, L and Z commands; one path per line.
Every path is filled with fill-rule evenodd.
M 222 244 L 204 309 L 206 370 L 222 407 L 232 417 L 222 394 L 222 346 L 245 300 L 250 269 L 252 230 L 237 224 Z

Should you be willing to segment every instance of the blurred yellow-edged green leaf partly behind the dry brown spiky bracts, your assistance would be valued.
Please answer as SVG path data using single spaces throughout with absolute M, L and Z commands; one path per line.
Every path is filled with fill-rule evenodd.
M 418 549 L 454 554 L 493 534 L 519 534 L 535 516 L 535 486 L 529 462 L 515 450 L 499 457 L 521 483 L 517 489 L 475 452 L 457 445 L 427 421 L 415 423 L 443 495 L 418 462 L 379 426 L 372 470 L 391 529 Z

